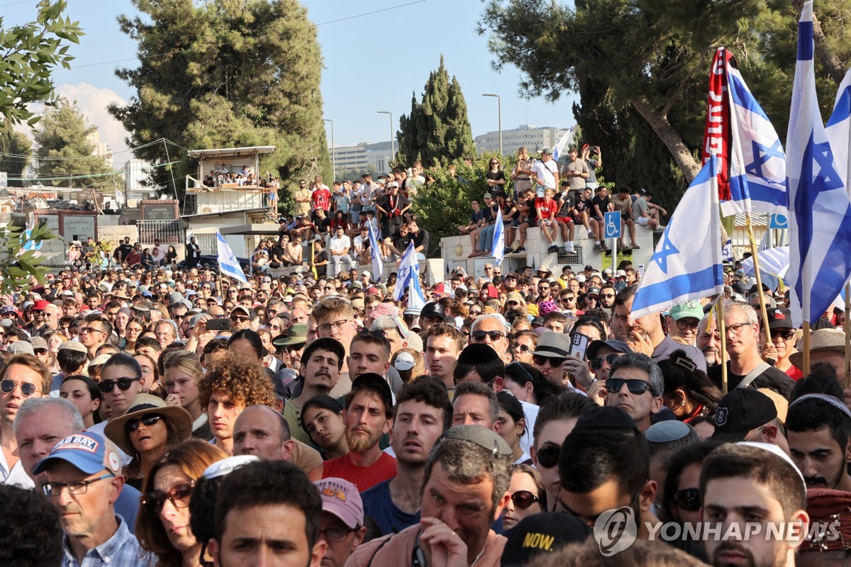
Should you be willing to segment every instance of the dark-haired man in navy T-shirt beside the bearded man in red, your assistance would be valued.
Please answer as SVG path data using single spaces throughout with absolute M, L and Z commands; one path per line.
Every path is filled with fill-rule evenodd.
M 393 418 L 396 478 L 374 485 L 361 495 L 364 513 L 375 520 L 385 536 L 420 523 L 426 462 L 452 418 L 452 405 L 443 383 L 420 378 L 406 384 L 397 397 Z

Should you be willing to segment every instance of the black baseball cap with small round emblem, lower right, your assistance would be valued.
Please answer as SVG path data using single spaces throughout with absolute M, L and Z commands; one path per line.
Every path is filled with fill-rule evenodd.
M 715 433 L 711 439 L 735 443 L 744 441 L 751 429 L 777 417 L 777 406 L 767 395 L 753 388 L 734 388 L 718 402 Z

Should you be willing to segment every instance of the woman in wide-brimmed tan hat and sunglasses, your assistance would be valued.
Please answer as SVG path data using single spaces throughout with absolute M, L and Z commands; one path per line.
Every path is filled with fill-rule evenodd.
M 136 394 L 129 410 L 106 424 L 104 434 L 133 456 L 124 467 L 127 484 L 142 490 L 142 482 L 161 456 L 189 439 L 192 418 L 182 407 L 165 405 L 155 395 Z

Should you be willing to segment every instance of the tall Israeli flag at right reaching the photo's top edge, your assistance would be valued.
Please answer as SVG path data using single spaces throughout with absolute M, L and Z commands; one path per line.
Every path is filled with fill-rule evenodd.
M 786 176 L 792 323 L 814 323 L 851 274 L 851 201 L 837 171 L 815 93 L 813 2 L 798 21 Z

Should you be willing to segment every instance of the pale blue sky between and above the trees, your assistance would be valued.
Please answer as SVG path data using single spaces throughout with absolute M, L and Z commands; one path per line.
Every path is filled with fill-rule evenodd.
M 506 66 L 493 70 L 487 37 L 476 27 L 483 12 L 480 0 L 302 0 L 317 25 L 323 54 L 323 115 L 334 121 L 334 145 L 382 142 L 394 132 L 399 116 L 410 111 L 411 95 L 422 95 L 429 73 L 443 54 L 449 75 L 458 78 L 467 103 L 473 136 L 498 129 L 499 94 L 502 127 L 521 124 L 568 128 L 575 123 L 566 93 L 556 103 L 523 99 L 518 93 L 520 71 Z M 3 27 L 33 20 L 37 0 L 0 0 Z M 79 20 L 86 35 L 70 53 L 71 70 L 54 72 L 57 92 L 76 99 L 101 140 L 114 152 L 117 165 L 132 157 L 127 133 L 106 106 L 121 104 L 133 89 L 115 76 L 118 67 L 138 65 L 136 44 L 117 25 L 118 14 L 135 14 L 129 0 L 68 0 L 66 14 Z M 326 122 L 328 143 L 331 126 Z

